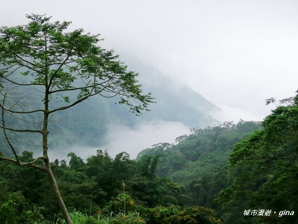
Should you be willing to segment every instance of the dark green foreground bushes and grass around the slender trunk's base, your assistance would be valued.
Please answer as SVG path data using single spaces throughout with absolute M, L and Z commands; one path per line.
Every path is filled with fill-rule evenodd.
M 216 223 L 216 213 L 203 207 L 188 206 L 181 187 L 166 177 L 157 177 L 158 156 L 129 159 L 125 152 L 111 158 L 98 150 L 86 161 L 74 153 L 70 162 L 55 160 L 51 164 L 66 206 L 74 211 L 71 219 L 79 222 L 103 223 Z M 20 159 L 32 161 L 32 153 L 24 151 Z M 59 207 L 42 171 L 1 161 L 0 222 L 16 223 L 53 220 L 63 222 Z M 149 172 L 148 172 L 149 171 Z M 87 209 L 87 211 L 86 211 Z M 85 211 L 84 213 L 75 211 Z M 26 222 L 25 222 L 26 221 Z M 45 222 L 44 222 L 45 223 Z

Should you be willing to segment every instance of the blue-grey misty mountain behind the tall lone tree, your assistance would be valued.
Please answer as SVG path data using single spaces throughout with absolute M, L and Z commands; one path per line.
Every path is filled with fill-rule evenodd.
M 136 64 L 138 67 L 134 66 Z M 219 123 L 209 115 L 209 112 L 219 109 L 200 94 L 185 85 L 175 84 L 175 81 L 150 67 L 145 65 L 142 67 L 137 62 L 134 65 L 129 65 L 129 68 L 140 72 L 138 78 L 140 84 L 143 85 L 143 92 L 151 92 L 157 102 L 149 106 L 150 112 L 136 116 L 129 112 L 129 108 L 125 105 L 118 105 L 117 98 L 94 96 L 71 109 L 54 113 L 50 120 L 49 148 L 67 148 L 74 144 L 90 147 L 102 145 L 105 143 L 104 134 L 109 124 L 133 127 L 141 121 L 160 120 L 181 122 L 192 128 Z M 25 77 L 25 79 L 28 78 Z M 40 96 L 30 95 L 28 90 L 26 90 L 26 94 L 31 99 L 30 102 L 32 99 L 37 104 L 42 101 Z M 71 102 L 74 96 L 68 96 Z M 51 99 L 57 104 L 66 104 L 61 100 L 61 96 L 52 96 Z M 30 105 L 26 102 L 19 107 L 25 107 L 26 111 L 38 109 L 36 105 Z M 6 126 L 19 129 L 39 128 L 40 123 L 38 122 L 42 120 L 42 112 L 38 115 L 27 114 L 21 117 L 36 123 L 5 117 Z M 19 133 L 7 130 L 7 135 L 18 153 L 23 150 L 40 151 L 42 147 L 41 137 L 38 133 Z M 4 139 L 2 129 L 0 129 L 0 151 L 7 156 L 12 155 Z

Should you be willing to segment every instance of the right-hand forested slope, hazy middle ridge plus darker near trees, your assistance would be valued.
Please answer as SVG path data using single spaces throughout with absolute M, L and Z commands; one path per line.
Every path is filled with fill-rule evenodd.
M 278 107 L 262 122 L 193 128 L 138 159 L 159 156 L 157 175 L 177 182 L 189 204 L 214 209 L 226 224 L 297 223 L 298 96 L 269 103 Z

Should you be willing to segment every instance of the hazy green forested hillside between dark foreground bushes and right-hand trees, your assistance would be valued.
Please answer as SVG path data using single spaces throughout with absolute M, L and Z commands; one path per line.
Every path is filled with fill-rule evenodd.
M 139 153 L 159 156 L 156 174 L 177 182 L 185 190 L 190 205 L 206 206 L 224 215 L 216 195 L 227 187 L 227 161 L 233 145 L 261 129 L 261 123 L 240 120 L 219 126 L 192 128 L 191 134 L 176 138 L 176 144 L 159 143 Z

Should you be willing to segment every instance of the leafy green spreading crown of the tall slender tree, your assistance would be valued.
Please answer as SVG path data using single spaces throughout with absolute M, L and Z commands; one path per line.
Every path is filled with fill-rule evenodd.
M 15 86 L 40 86 L 49 98 L 55 94 L 71 106 L 94 95 L 119 97 L 131 112 L 148 111 L 153 102 L 150 93 L 143 95 L 136 77 L 118 60 L 113 50 L 98 45 L 99 34 L 83 29 L 66 32 L 71 22 L 51 22 L 51 16 L 30 14 L 26 25 L 0 27 L 0 77 Z M 19 75 L 31 77 L 18 82 Z M 58 110 L 65 110 L 58 109 Z M 57 111 L 57 110 L 54 110 Z M 54 112 L 52 111 L 52 112 Z

